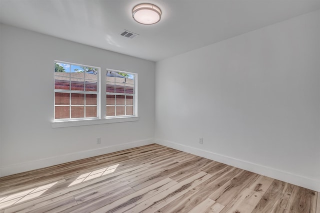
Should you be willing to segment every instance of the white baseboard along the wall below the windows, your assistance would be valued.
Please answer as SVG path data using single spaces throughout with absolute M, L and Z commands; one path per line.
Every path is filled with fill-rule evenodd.
M 154 143 L 153 139 L 146 139 L 146 140 L 134 141 L 134 142 L 125 143 L 125 144 L 103 147 L 99 149 L 86 150 L 82 152 L 74 152 L 66 155 L 28 161 L 21 164 L 3 166 L 2 168 L 0 168 L 0 175 L 1 175 L 0 177 L 13 175 L 21 172 L 26 172 L 30 170 L 40 169 L 44 167 L 49 167 L 57 164 L 63 164 L 71 161 L 76 161 L 76 160 L 89 158 L 97 155 L 103 155 L 111 152 L 130 149 L 134 147 L 144 146 L 152 143 Z

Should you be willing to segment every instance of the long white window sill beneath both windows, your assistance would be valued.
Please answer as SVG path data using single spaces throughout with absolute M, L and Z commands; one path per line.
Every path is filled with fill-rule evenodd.
M 137 121 L 139 117 L 120 117 L 120 118 L 104 118 L 104 119 L 90 119 L 90 120 L 73 120 L 73 121 L 54 121 L 51 123 L 52 128 L 61 127 L 76 127 L 76 126 L 87 126 L 96 124 L 109 124 L 119 122 L 130 122 Z

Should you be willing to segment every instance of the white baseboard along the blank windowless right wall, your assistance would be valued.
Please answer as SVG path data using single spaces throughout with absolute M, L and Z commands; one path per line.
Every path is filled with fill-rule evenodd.
M 237 167 L 243 170 L 257 173 L 259 175 L 264 175 L 270 178 L 274 178 L 280 181 L 284 181 L 290 184 L 294 184 L 300 187 L 304 187 L 310 190 L 320 192 L 320 180 L 311 179 L 308 177 L 299 176 L 296 174 L 284 172 L 274 168 L 254 164 L 247 161 L 242 161 L 239 159 L 231 158 L 224 155 L 219 155 L 206 150 L 197 149 L 194 147 L 185 146 L 182 144 L 174 143 L 171 141 L 166 141 L 162 139 L 154 139 L 155 143 L 177 149 L 183 152 L 187 152 L 193 155 L 197 155 L 203 158 L 207 158 L 213 161 L 224 163 L 233 167 Z

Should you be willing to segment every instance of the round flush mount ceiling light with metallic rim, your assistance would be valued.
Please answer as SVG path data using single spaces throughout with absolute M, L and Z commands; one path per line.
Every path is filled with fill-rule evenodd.
M 161 19 L 161 9 L 151 3 L 140 3 L 133 7 L 132 17 L 141 24 L 154 24 Z

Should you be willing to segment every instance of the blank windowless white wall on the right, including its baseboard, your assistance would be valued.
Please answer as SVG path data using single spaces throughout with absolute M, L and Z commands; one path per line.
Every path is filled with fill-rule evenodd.
M 320 191 L 319 24 L 318 10 L 157 62 L 156 141 Z

